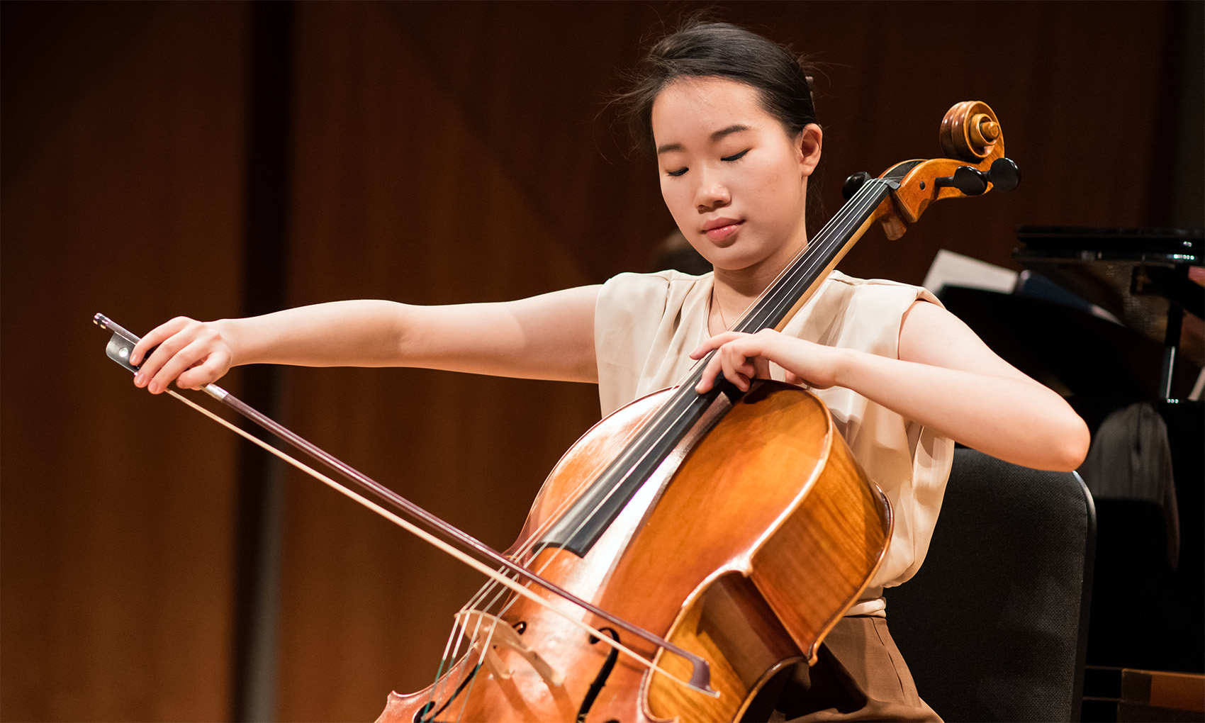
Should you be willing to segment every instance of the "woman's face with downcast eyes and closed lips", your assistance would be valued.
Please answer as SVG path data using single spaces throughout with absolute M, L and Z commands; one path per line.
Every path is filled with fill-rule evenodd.
M 807 243 L 807 177 L 821 129 L 790 137 L 752 86 L 678 78 L 657 96 L 662 196 L 687 241 L 717 270 L 782 269 Z

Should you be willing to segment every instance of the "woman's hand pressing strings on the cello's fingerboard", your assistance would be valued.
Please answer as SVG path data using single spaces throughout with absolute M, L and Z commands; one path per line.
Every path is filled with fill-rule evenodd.
M 741 392 L 748 392 L 754 378 L 770 378 L 770 363 L 774 362 L 787 374 L 787 382 L 807 384 L 816 389 L 827 389 L 836 383 L 840 364 L 840 349 L 827 347 L 793 336 L 784 336 L 774 329 L 763 329 L 757 334 L 724 331 L 703 342 L 690 352 L 692 359 L 703 359 L 712 349 L 716 355 L 703 370 L 703 381 L 695 387 L 700 394 L 715 386 L 716 376 L 736 384 Z

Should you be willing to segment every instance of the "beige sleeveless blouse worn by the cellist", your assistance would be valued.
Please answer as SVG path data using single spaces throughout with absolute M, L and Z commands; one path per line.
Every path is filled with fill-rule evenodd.
M 707 339 L 712 275 L 621 274 L 602 284 L 594 313 L 602 413 L 672 387 Z M 897 358 L 904 312 L 923 288 L 834 271 L 783 329 L 817 343 Z M 771 365 L 771 376 L 783 378 Z M 875 588 L 912 577 L 924 560 L 950 476 L 954 442 L 848 389 L 815 390 L 866 474 L 890 500 L 895 529 L 868 599 L 850 615 L 881 615 Z M 874 598 L 874 599 L 872 599 Z

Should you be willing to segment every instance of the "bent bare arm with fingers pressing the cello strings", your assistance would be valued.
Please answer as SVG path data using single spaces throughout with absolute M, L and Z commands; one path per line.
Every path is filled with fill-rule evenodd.
M 904 317 L 899 359 L 817 345 L 765 330 L 725 333 L 692 354 L 719 352 L 699 390 L 719 371 L 741 389 L 765 360 L 788 381 L 846 387 L 887 408 L 1006 462 L 1074 470 L 1088 452 L 1088 428 L 1063 398 L 1000 359 L 966 324 L 918 301 Z

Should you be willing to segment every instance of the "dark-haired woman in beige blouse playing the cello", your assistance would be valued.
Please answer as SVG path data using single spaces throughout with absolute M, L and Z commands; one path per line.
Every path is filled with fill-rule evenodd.
M 656 154 L 678 229 L 713 266 L 623 274 L 601 286 L 509 302 L 341 301 L 255 318 L 172 319 L 130 360 L 152 393 L 199 388 L 240 364 L 425 366 L 596 382 L 602 412 L 672 386 L 712 349 L 716 374 L 806 384 L 890 500 L 895 527 L 870 588 L 799 666 L 780 717 L 936 721 L 886 628 L 882 587 L 924 558 L 954 441 L 1016 464 L 1071 470 L 1083 421 L 988 349 L 924 289 L 833 272 L 780 333 L 731 323 L 807 245 L 809 178 L 821 159 L 807 70 L 727 24 L 662 40 L 622 99 Z M 158 347 L 145 362 L 148 349 Z

